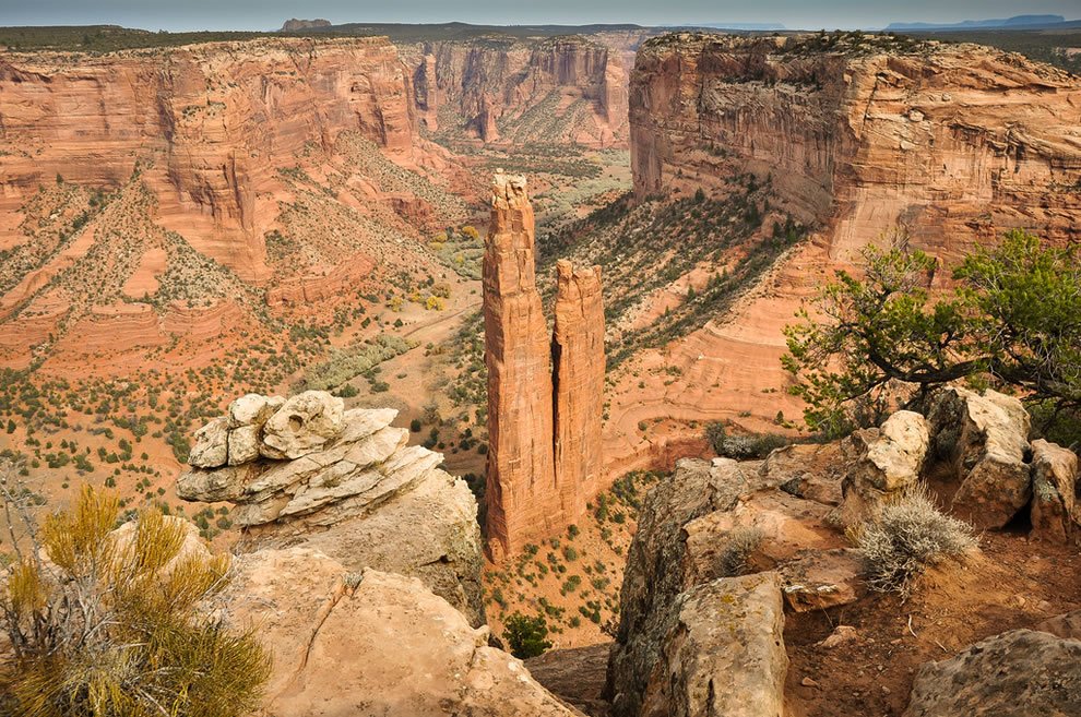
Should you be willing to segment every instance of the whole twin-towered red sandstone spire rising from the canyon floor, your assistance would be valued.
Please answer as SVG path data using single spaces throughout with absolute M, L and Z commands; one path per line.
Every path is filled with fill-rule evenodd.
M 601 272 L 559 262 L 549 338 L 524 177 L 496 175 L 484 254 L 488 538 L 500 553 L 561 529 L 601 489 Z

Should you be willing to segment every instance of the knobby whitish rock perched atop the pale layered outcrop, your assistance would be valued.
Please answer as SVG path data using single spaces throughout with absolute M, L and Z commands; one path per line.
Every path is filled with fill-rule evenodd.
M 263 426 L 260 452 L 268 458 L 299 458 L 321 450 L 342 433 L 344 406 L 325 391 L 290 397 Z

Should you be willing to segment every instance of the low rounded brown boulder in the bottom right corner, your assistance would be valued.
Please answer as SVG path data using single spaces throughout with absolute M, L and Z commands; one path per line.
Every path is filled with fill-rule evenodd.
M 919 668 L 903 717 L 1081 715 L 1081 642 L 1013 630 Z

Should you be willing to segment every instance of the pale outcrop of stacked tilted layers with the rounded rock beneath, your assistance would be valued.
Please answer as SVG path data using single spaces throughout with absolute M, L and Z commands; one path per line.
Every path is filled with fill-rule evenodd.
M 416 576 L 483 624 L 476 502 L 440 454 L 406 446 L 396 414 L 317 391 L 242 396 L 197 433 L 177 494 L 234 503 L 246 551 L 305 546 L 347 570 Z

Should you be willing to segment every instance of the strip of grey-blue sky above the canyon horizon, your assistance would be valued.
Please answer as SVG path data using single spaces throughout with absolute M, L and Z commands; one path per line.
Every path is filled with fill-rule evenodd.
M 0 0 L 0 25 L 114 24 L 170 32 L 275 29 L 289 17 L 475 24 L 782 23 L 789 29 L 882 27 L 1018 14 L 1081 17 L 1081 0 Z

